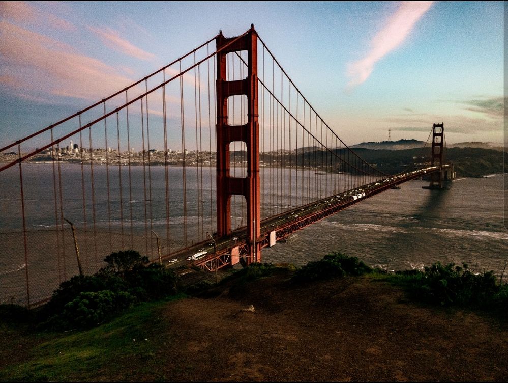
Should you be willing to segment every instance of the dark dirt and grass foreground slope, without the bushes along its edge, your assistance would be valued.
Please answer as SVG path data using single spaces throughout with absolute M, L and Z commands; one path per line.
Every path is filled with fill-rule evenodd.
M 14 370 L 25 378 L 18 380 L 53 381 L 500 381 L 508 376 L 508 330 L 498 319 L 412 303 L 376 275 L 298 287 L 288 283 L 290 275 L 282 269 L 152 306 L 140 322 L 131 317 L 91 330 L 101 341 L 86 352 L 78 347 L 89 340 L 72 337 L 87 332 L 57 334 L 32 350 L 30 338 L 12 335 L 2 346 L 10 349 L 0 353 L 0 371 L 10 372 L 0 372 L 0 380 L 12 378 Z M 62 351 L 66 338 L 75 351 Z M 109 351 L 96 352 L 106 344 Z M 15 352 L 22 364 L 13 369 L 8 355 L 16 349 L 23 351 Z M 62 367 L 70 363 L 76 368 Z M 38 366 L 35 375 L 33 366 Z

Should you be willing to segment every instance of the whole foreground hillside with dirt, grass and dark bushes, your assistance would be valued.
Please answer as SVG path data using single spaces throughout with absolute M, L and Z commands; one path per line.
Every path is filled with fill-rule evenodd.
M 156 278 L 168 277 L 166 271 L 141 267 L 136 254 L 128 254 L 130 265 L 115 254 L 96 276 L 102 282 L 89 280 L 88 286 L 137 298 L 123 315 L 117 310 L 100 323 L 86 320 L 86 330 L 55 331 L 53 325 L 35 331 L 37 315 L 0 306 L 1 381 L 501 381 L 508 376 L 508 285 L 491 272 L 476 275 L 467 265 L 436 263 L 389 274 L 334 253 L 301 268 L 253 264 L 222 273 L 218 284 L 207 279 L 210 273 L 195 270 L 174 284 L 173 278 Z M 165 297 L 154 301 L 157 294 L 147 295 L 146 288 L 156 280 L 157 294 Z M 87 300 L 81 282 L 55 292 L 54 312 L 62 312 L 64 300 L 74 302 L 72 295 Z M 107 301 L 101 299 L 94 302 Z M 66 304 L 64 311 L 78 306 Z M 88 314 L 98 309 L 84 305 Z

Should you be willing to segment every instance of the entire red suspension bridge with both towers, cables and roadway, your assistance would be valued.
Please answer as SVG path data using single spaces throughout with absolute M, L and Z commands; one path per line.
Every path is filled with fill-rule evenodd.
M 383 173 L 326 124 L 254 26 L 221 31 L 0 149 L 0 300 L 40 304 L 119 250 L 210 271 L 261 262 L 263 248 L 401 183 L 443 188 L 442 123 L 430 137 L 428 162 Z

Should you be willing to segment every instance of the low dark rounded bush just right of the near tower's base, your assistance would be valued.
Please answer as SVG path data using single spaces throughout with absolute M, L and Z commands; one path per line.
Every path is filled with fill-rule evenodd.
M 320 261 L 309 262 L 297 270 L 291 278 L 293 283 L 324 281 L 346 275 L 361 276 L 372 269 L 356 257 L 342 253 L 327 254 Z

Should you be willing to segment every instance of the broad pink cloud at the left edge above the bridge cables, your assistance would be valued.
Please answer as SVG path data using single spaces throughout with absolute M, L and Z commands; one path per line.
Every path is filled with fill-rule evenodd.
M 7 21 L 0 21 L 0 34 L 0 84 L 18 97 L 96 100 L 132 83 L 100 60 Z

